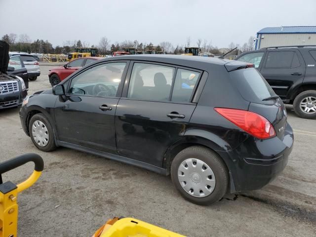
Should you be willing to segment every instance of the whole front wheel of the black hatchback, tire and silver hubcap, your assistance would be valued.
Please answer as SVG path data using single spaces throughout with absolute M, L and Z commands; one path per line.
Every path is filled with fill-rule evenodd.
M 32 142 L 39 150 L 50 152 L 56 149 L 52 126 L 43 114 L 36 114 L 30 119 L 29 131 Z

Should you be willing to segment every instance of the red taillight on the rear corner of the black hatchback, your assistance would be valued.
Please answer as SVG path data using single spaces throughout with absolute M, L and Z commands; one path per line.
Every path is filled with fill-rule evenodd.
M 214 110 L 256 138 L 267 139 L 276 136 L 271 122 L 261 115 L 237 109 L 215 108 Z

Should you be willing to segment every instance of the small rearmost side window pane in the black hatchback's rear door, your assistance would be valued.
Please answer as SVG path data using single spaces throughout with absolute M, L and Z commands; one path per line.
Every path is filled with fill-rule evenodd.
M 178 69 L 172 91 L 172 102 L 190 102 L 193 89 L 197 83 L 199 73 L 185 69 Z

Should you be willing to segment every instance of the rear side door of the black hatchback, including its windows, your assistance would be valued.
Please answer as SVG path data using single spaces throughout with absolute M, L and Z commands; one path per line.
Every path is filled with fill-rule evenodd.
M 167 148 L 184 135 L 201 72 L 134 62 L 115 117 L 118 154 L 161 167 Z

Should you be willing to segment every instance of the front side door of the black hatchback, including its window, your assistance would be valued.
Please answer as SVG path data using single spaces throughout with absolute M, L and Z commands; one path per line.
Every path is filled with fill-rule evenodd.
M 66 96 L 55 104 L 59 140 L 116 153 L 115 113 L 126 62 L 93 65 L 66 81 Z

